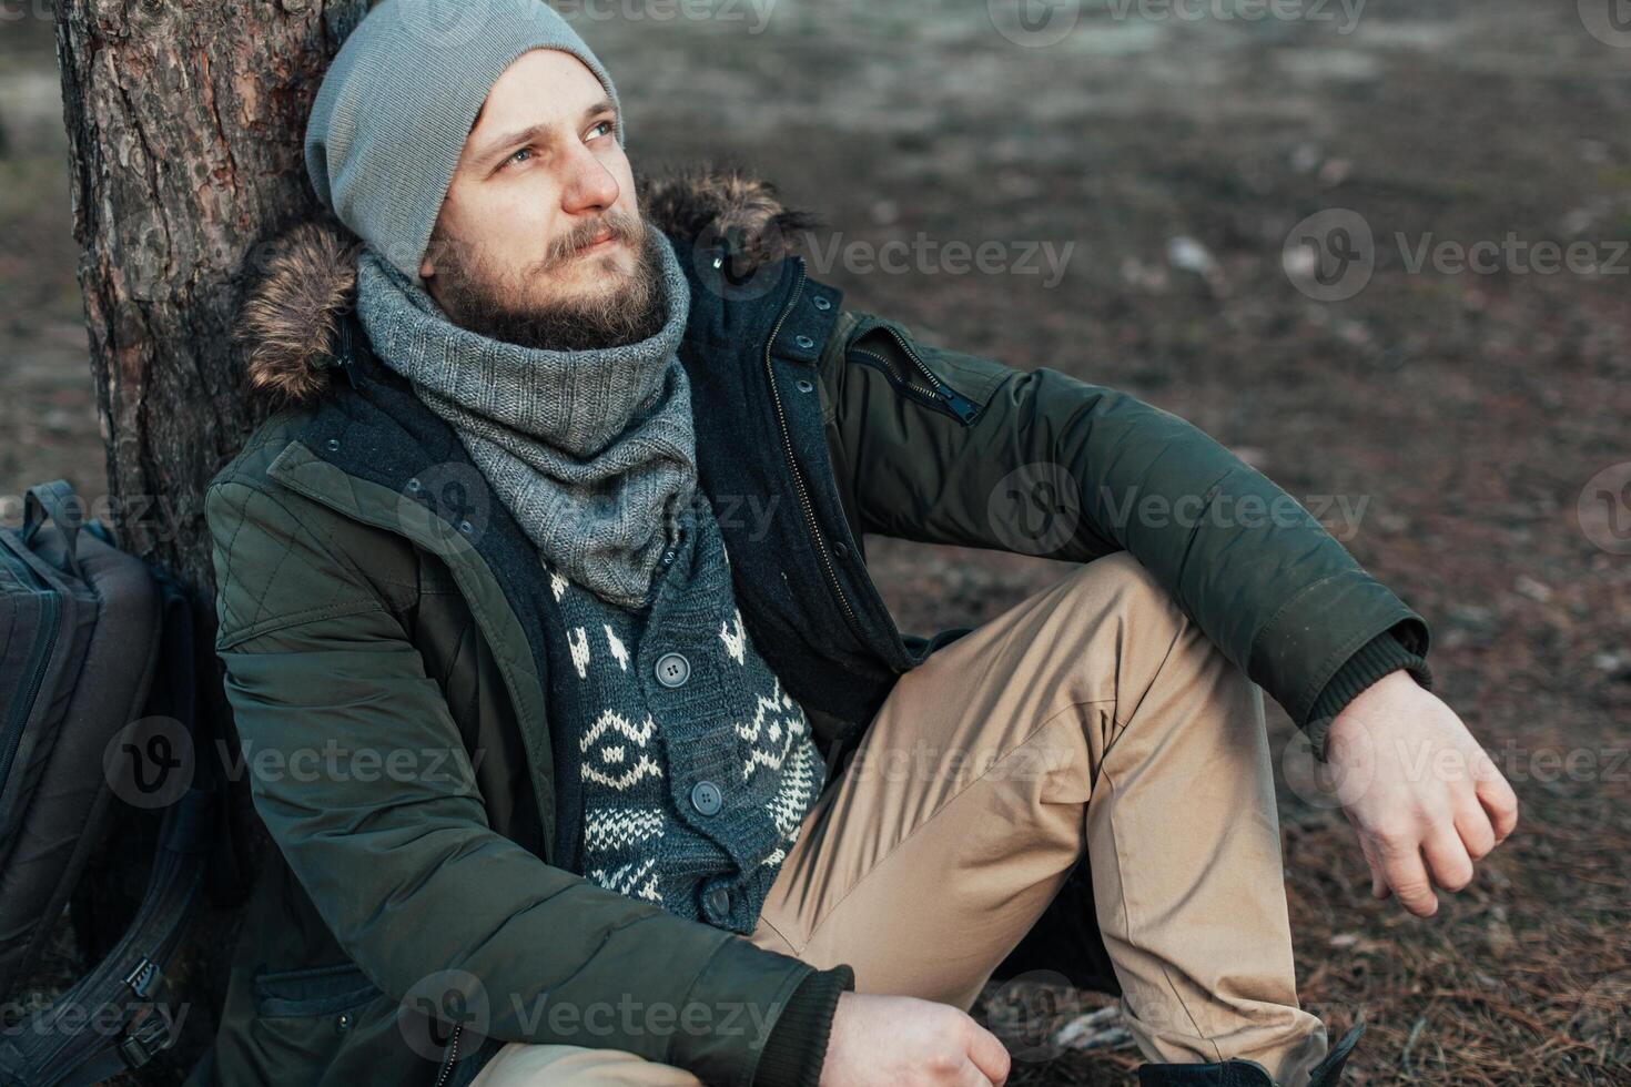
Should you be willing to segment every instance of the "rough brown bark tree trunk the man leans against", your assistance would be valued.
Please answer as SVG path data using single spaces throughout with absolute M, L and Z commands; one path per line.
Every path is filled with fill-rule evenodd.
M 209 479 L 259 422 L 241 394 L 232 324 L 264 243 L 321 210 L 305 178 L 307 114 L 367 7 L 57 0 L 78 280 L 108 443 L 108 505 L 90 513 L 194 590 L 201 733 L 232 751 L 202 507 Z M 215 1030 L 236 934 L 230 906 L 258 859 L 243 846 L 259 841 L 246 782 L 228 784 L 223 812 L 240 869 L 212 870 L 215 909 L 171 970 L 178 999 L 189 1002 L 183 1041 L 144 1069 L 144 1082 L 179 1082 Z M 116 844 L 126 847 L 104 854 L 103 878 L 86 878 L 83 911 L 77 904 L 83 953 L 117 935 L 152 830 L 122 828 Z

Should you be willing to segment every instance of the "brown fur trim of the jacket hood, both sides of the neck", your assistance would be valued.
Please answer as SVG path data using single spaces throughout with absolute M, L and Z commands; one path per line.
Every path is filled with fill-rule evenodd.
M 775 187 L 739 169 L 698 168 L 639 183 L 641 207 L 665 233 L 729 240 L 732 271 L 750 272 L 794 249 L 794 231 L 816 220 L 791 210 Z M 323 393 L 339 321 L 356 303 L 362 241 L 329 217 L 289 228 L 264 249 L 264 271 L 238 311 L 256 393 L 285 404 Z

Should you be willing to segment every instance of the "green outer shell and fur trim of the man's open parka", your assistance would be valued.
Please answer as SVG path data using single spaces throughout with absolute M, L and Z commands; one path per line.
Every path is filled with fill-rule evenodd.
M 649 207 L 674 235 L 752 233 L 780 213 L 739 178 L 659 192 Z M 329 363 L 354 253 L 325 225 L 282 240 L 245 313 L 253 385 L 282 406 L 207 492 L 217 650 L 277 849 L 194 1082 L 463 1084 L 507 1040 L 630 1050 L 732 1087 L 807 1082 L 848 971 L 553 867 L 545 688 L 504 585 L 447 521 L 367 477 L 377 451 L 305 433 L 325 398 L 352 403 Z M 1316 745 L 1368 681 L 1425 675 L 1421 616 L 1182 419 L 856 310 L 812 359 L 856 544 L 1045 541 L 1080 562 L 1127 549 Z M 427 442 L 426 486 L 468 471 L 452 448 L 400 438 Z M 1059 481 L 1075 494 L 1045 489 Z M 1021 505 L 993 502 L 1013 491 Z M 1225 505 L 1235 515 L 1209 515 Z M 811 719 L 824 745 L 838 738 L 842 722 Z

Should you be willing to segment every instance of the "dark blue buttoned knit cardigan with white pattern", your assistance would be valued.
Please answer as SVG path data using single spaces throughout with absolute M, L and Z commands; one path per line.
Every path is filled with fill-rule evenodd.
M 678 515 L 638 611 L 546 559 L 550 722 L 577 784 L 576 867 L 683 918 L 750 934 L 827 768 L 754 649 L 709 504 Z

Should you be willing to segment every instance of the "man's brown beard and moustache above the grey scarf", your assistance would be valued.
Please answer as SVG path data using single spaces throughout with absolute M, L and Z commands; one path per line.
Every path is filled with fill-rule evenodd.
M 605 259 L 605 275 L 621 282 L 587 298 L 530 301 L 527 288 L 535 272 L 548 272 L 577 257 L 595 236 L 638 246 L 634 271 L 623 275 Z M 571 230 L 550 246 L 541 264 L 519 274 L 496 269 L 468 246 L 442 244 L 437 271 L 439 303 L 447 316 L 471 332 L 520 347 L 543 350 L 595 350 L 651 339 L 669 321 L 662 288 L 662 238 L 657 228 L 623 212 L 607 212 Z M 590 257 L 594 259 L 594 257 Z

